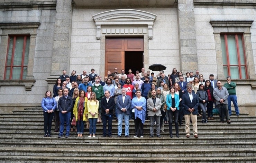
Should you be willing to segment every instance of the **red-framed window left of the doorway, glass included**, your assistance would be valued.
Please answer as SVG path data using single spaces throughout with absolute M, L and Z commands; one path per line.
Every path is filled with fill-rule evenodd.
M 29 43 L 29 35 L 9 35 L 4 79 L 26 79 Z

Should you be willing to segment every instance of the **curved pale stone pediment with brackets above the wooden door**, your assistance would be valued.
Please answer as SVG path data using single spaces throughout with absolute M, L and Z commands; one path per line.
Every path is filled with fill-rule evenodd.
M 145 33 L 143 30 L 139 32 L 139 28 L 132 27 L 147 27 L 148 28 L 148 39 L 153 39 L 153 25 L 156 20 L 156 15 L 134 9 L 118 9 L 101 12 L 92 16 L 96 26 L 96 39 L 100 40 L 101 33 Z M 126 26 L 131 28 L 117 28 L 120 26 Z M 102 29 L 102 27 L 113 27 L 108 29 Z M 115 29 L 115 32 L 112 30 Z M 127 32 L 126 32 L 127 31 Z M 138 32 L 137 32 L 138 31 Z

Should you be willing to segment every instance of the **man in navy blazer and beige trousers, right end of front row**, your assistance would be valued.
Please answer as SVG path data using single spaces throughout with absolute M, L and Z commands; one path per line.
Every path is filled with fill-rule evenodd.
M 185 118 L 185 131 L 186 131 L 186 137 L 189 138 L 190 131 L 189 131 L 189 123 L 190 118 L 192 120 L 193 125 L 193 135 L 195 138 L 198 138 L 197 135 L 197 114 L 198 114 L 198 95 L 192 92 L 192 85 L 187 85 L 187 93 L 183 93 L 182 96 L 182 104 L 184 107 L 184 118 Z

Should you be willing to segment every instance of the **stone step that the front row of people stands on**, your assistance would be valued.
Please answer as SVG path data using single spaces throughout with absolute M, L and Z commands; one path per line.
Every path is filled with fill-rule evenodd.
M 186 138 L 185 136 L 183 137 L 144 137 L 143 139 L 141 138 L 126 138 L 124 136 L 122 137 L 87 137 L 88 135 L 84 135 L 84 137 L 69 137 L 68 139 L 65 140 L 65 142 L 68 143 L 201 143 L 201 142 L 208 142 L 208 143 L 223 143 L 223 142 L 256 142 L 256 137 L 199 137 L 198 139 L 194 139 L 191 137 L 191 139 Z M 9 142 L 63 142 L 63 139 L 59 139 L 57 137 L 38 137 L 38 136 L 33 136 L 33 137 L 25 137 L 25 136 L 1 136 L 0 138 L 1 141 L 9 141 Z M 255 149 L 256 150 L 256 149 Z

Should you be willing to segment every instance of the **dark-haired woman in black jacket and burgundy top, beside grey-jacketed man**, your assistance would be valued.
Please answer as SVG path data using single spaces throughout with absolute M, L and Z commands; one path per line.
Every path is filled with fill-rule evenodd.
M 214 120 L 214 118 L 212 117 L 212 109 L 213 109 L 213 103 L 215 99 L 213 97 L 213 87 L 210 80 L 205 81 L 204 90 L 207 92 L 207 95 L 208 95 L 208 102 L 207 102 L 208 120 Z

